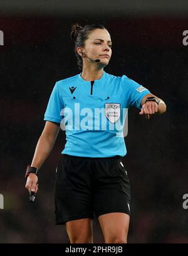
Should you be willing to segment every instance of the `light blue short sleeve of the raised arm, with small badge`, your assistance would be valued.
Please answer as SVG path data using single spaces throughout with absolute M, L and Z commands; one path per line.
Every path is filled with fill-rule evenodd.
M 141 101 L 145 95 L 150 94 L 150 91 L 144 86 L 128 78 L 126 75 L 122 76 L 122 82 L 127 106 L 134 106 L 135 108 L 141 109 Z

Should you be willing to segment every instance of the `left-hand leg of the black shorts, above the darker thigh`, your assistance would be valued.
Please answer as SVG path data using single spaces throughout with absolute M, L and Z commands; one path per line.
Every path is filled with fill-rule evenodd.
M 93 218 L 90 165 L 85 159 L 63 156 L 56 173 L 56 225 Z

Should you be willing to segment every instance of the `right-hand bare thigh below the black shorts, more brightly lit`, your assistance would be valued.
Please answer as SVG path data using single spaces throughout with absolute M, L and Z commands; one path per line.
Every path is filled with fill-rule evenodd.
M 130 216 L 126 213 L 107 213 L 98 217 L 105 243 L 127 243 Z

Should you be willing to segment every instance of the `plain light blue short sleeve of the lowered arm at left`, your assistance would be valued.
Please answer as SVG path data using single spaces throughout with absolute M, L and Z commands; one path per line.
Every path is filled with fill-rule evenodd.
M 48 101 L 48 106 L 46 112 L 44 113 L 44 120 L 53 121 L 56 123 L 61 123 L 61 110 L 63 109 L 63 99 L 60 96 L 58 82 L 56 82 L 51 92 L 50 99 Z

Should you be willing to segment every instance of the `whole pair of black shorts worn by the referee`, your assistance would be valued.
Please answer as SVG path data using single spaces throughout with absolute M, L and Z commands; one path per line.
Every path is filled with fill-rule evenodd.
M 91 158 L 63 154 L 56 169 L 56 225 L 93 213 L 130 215 L 130 182 L 122 157 Z

